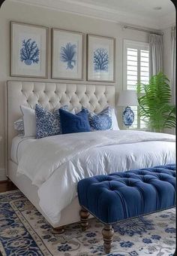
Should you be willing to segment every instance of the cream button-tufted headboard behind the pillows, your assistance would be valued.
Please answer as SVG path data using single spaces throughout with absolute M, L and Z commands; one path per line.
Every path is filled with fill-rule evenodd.
M 70 109 L 81 108 L 83 105 L 98 112 L 107 105 L 115 105 L 115 87 L 111 85 L 7 81 L 7 159 L 10 157 L 11 140 L 17 135 L 13 129 L 13 122 L 22 116 L 20 105 L 34 108 L 36 103 L 51 111 L 62 105 L 68 105 Z

